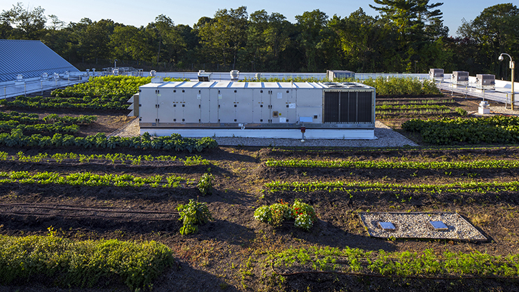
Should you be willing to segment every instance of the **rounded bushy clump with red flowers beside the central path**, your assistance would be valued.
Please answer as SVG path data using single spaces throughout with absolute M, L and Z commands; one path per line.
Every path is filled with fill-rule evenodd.
M 254 219 L 268 223 L 272 226 L 280 226 L 285 220 L 295 220 L 294 225 L 304 230 L 309 230 L 317 221 L 316 211 L 307 203 L 296 199 L 292 206 L 283 200 L 270 206 L 261 206 L 254 211 Z

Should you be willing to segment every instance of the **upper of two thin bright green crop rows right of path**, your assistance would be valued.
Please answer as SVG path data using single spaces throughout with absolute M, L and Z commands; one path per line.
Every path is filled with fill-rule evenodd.
M 518 168 L 519 161 L 315 161 L 315 160 L 268 160 L 268 167 L 324 167 L 324 168 L 400 168 L 410 170 L 474 170 Z

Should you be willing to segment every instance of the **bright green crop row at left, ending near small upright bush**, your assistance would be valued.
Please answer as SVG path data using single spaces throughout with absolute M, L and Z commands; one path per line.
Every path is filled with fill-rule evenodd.
M 37 172 L 30 174 L 22 172 L 0 172 L 0 183 L 55 183 L 60 185 L 89 185 L 115 187 L 151 187 L 151 188 L 179 188 L 181 183 L 194 184 L 190 179 L 181 176 L 154 175 L 148 177 L 132 176 L 131 174 L 92 174 L 91 172 L 77 172 L 74 174 L 59 174 L 57 172 Z

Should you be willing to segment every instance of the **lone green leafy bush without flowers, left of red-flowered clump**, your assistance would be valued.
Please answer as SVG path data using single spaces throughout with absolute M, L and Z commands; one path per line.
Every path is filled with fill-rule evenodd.
M 206 203 L 199 203 L 193 199 L 189 203 L 176 207 L 180 212 L 180 221 L 183 225 L 180 228 L 181 235 L 188 235 L 190 233 L 197 233 L 199 224 L 207 223 L 212 220 L 211 213 L 207 208 Z

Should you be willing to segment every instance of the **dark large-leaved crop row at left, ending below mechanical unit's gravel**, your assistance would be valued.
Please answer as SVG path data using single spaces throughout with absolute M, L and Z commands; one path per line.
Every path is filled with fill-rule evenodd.
M 104 133 L 98 133 L 86 137 L 75 137 L 72 135 L 54 134 L 54 136 L 42 136 L 34 134 L 24 136 L 20 129 L 13 129 L 11 134 L 0 134 L 0 145 L 8 147 L 84 147 L 84 148 L 117 148 L 131 147 L 138 149 L 174 149 L 176 151 L 196 150 L 201 152 L 206 148 L 214 148 L 218 144 L 209 137 L 205 138 L 182 138 L 179 134 L 152 138 L 145 133 L 136 137 L 107 137 Z

